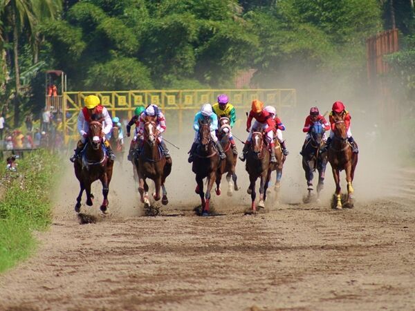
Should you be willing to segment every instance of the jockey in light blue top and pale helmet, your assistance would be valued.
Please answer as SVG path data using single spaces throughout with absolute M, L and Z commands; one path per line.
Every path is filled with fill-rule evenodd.
M 196 135 L 194 135 L 194 142 L 192 144 L 192 148 L 189 151 L 189 159 L 187 161 L 189 163 L 193 162 L 193 154 L 196 151 L 196 147 L 199 144 L 199 121 L 202 120 L 209 120 L 210 122 L 210 136 L 212 140 L 216 144 L 216 148 L 218 149 L 219 158 L 221 160 L 226 158 L 225 153 L 223 152 L 223 148 L 221 142 L 219 142 L 218 138 L 216 137 L 216 130 L 218 129 L 218 117 L 212 111 L 212 106 L 210 104 L 204 104 L 202 106 L 201 111 L 194 115 L 194 122 L 193 122 L 193 129 L 196 131 Z

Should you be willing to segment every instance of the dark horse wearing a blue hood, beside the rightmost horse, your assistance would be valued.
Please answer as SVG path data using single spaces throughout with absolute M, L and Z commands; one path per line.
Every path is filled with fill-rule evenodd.
M 320 148 L 324 147 L 324 127 L 321 122 L 315 122 L 310 127 L 310 138 L 305 142 L 302 148 L 302 167 L 304 169 L 307 180 L 308 195 L 303 199 L 304 203 L 308 203 L 312 198 L 313 178 L 315 169 L 318 171 L 317 184 L 317 200 L 320 191 L 324 187 L 324 173 L 327 166 L 327 153 L 320 153 Z

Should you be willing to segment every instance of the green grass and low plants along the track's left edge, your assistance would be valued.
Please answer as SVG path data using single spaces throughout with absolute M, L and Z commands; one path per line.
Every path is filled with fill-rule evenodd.
M 33 151 L 17 159 L 17 172 L 6 171 L 6 162 L 0 166 L 0 272 L 33 254 L 33 232 L 50 225 L 58 162 L 47 151 Z

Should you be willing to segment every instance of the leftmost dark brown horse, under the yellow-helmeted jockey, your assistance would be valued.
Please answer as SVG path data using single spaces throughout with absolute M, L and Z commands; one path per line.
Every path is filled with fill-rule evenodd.
M 91 121 L 82 159 L 77 159 L 73 163 L 75 176 L 80 181 L 81 187 L 80 194 L 76 198 L 75 211 L 77 213 L 80 212 L 81 198 L 84 190 L 86 191 L 86 205 L 93 205 L 91 184 L 98 179 L 102 183 L 102 195 L 104 196 L 100 209 L 104 214 L 108 212 L 109 182 L 111 182 L 114 162 L 108 158 L 107 153 L 104 151 L 103 137 L 102 122 Z

